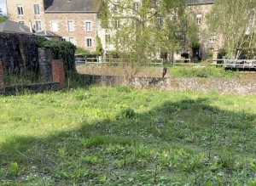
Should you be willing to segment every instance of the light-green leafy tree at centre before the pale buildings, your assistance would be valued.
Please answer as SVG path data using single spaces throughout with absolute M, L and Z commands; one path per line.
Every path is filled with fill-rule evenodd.
M 161 53 L 179 48 L 180 25 L 185 6 L 179 0 L 102 1 L 100 19 L 106 42 L 114 48 L 125 76 Z

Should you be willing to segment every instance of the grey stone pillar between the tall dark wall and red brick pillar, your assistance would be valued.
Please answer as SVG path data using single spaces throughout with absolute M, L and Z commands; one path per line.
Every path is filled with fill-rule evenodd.
M 52 79 L 51 59 L 50 48 L 38 48 L 39 70 L 45 82 L 50 82 Z

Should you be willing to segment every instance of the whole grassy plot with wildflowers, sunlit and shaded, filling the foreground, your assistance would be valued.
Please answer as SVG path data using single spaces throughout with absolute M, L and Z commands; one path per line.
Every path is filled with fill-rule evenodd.
M 0 185 L 255 185 L 256 98 L 88 87 L 0 97 Z

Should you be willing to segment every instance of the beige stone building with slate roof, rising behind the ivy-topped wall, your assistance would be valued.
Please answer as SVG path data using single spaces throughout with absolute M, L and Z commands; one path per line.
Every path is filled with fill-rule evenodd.
M 95 51 L 99 4 L 93 0 L 6 0 L 9 20 L 34 31 L 53 31 L 62 40 Z

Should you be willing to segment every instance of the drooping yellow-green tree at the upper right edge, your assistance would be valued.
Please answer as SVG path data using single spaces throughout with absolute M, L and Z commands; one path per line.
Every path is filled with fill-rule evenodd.
M 216 0 L 207 14 L 209 32 L 222 37 L 222 46 L 231 58 L 237 58 L 241 50 L 256 48 L 254 0 Z

